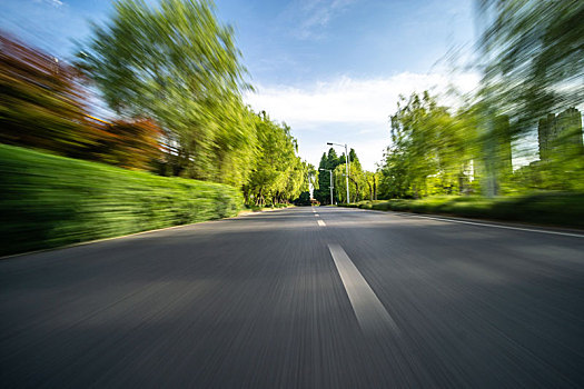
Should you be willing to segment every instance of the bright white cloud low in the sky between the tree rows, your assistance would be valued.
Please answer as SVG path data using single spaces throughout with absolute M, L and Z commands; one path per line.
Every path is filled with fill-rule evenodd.
M 338 141 L 348 142 L 364 168 L 374 170 L 389 144 L 388 117 L 396 110 L 399 94 L 426 89 L 446 93 L 452 86 L 468 92 L 477 83 L 478 76 L 474 73 L 448 77 L 404 72 L 375 79 L 340 77 L 304 88 L 257 86 L 257 92 L 247 94 L 246 102 L 257 111 L 265 110 L 274 120 L 290 124 L 298 138 L 300 154 L 311 163 L 318 163 L 327 141 Z

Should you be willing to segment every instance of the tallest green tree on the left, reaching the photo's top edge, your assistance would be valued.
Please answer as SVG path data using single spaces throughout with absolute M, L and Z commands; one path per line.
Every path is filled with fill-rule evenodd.
M 121 118 L 160 124 L 174 174 L 245 182 L 255 140 L 245 69 L 210 1 L 119 1 L 78 58 Z

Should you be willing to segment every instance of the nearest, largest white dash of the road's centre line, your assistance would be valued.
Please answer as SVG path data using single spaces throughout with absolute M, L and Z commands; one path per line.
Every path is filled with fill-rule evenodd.
M 330 256 L 337 266 L 362 330 L 367 335 L 378 333 L 387 328 L 398 332 L 399 328 L 396 322 L 345 250 L 339 245 L 328 245 L 328 250 L 330 250 Z

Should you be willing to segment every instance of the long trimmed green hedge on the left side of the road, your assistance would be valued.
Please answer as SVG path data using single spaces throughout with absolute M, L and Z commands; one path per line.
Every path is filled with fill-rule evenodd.
M 0 144 L 0 255 L 237 215 L 229 186 Z

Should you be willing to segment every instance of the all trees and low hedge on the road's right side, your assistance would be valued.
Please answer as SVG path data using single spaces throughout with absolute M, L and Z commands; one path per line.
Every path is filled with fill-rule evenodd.
M 584 3 L 479 0 L 477 10 L 482 36 L 472 68 L 483 76 L 479 89 L 457 94 L 456 107 L 428 91 L 403 96 L 377 172 L 355 163 L 350 176 L 360 179 L 349 180 L 350 201 L 583 227 Z M 320 168 L 335 169 L 335 161 L 330 150 Z M 372 189 L 359 196 L 364 187 Z

